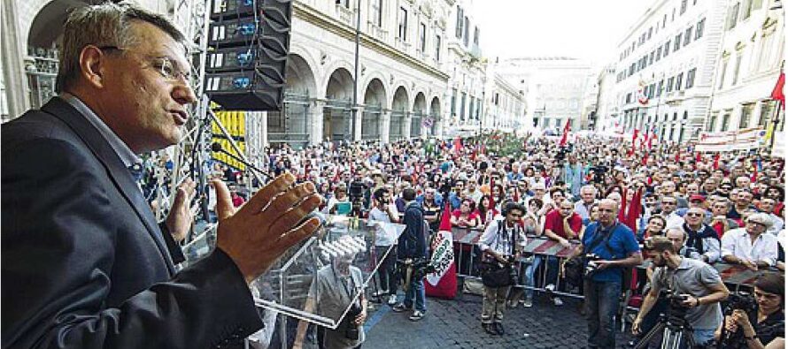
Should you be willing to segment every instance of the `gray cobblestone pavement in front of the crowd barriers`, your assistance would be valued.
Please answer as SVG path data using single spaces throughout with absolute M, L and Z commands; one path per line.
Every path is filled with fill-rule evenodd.
M 505 313 L 504 336 L 482 330 L 479 314 L 482 297 L 465 294 L 457 300 L 428 299 L 421 322 L 408 320 L 409 313 L 394 313 L 377 306 L 367 328 L 367 348 L 580 348 L 585 345 L 586 324 L 577 312 L 580 300 L 563 298 L 554 307 L 545 297 L 535 296 L 534 306 L 519 306 Z M 617 332 L 616 345 L 631 339 Z

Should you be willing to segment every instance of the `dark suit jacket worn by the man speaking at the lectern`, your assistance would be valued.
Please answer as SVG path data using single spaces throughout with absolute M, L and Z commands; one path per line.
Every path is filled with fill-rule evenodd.
M 175 274 L 177 245 L 67 102 L 2 126 L 2 169 L 4 348 L 205 348 L 262 326 L 219 249 Z

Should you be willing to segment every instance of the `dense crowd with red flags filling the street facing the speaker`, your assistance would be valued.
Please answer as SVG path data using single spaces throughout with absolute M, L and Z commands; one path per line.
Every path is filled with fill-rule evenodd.
M 512 143 L 519 143 L 515 151 L 506 148 Z M 315 183 L 326 199 L 321 207 L 326 214 L 405 223 L 406 211 L 418 207 L 429 231 L 434 232 L 448 209 L 452 227 L 484 231 L 478 246 L 482 261 L 526 256 L 521 246 L 527 237 L 542 236 L 564 247 L 580 244 L 576 254 L 596 254 L 599 269 L 605 269 L 587 278 L 580 290 L 585 297 L 582 311 L 589 318 L 590 347 L 614 345 L 614 315 L 622 283 L 630 282 L 622 270 L 653 257 L 651 251 L 641 254 L 647 239 L 674 241 L 672 252 L 682 261 L 784 272 L 784 255 L 778 247 L 784 235 L 784 159 L 755 152 L 699 154 L 691 146 L 675 144 L 636 151 L 628 141 L 595 136 L 558 147 L 545 138 L 489 133 L 465 140 L 386 145 L 282 146 L 268 148 L 261 163 L 266 171 L 288 171 L 300 181 Z M 498 231 L 498 226 L 514 226 L 506 223 L 510 221 L 516 222 L 517 229 Z M 421 226 L 408 224 L 408 229 L 415 225 Z M 429 231 L 421 234 L 429 236 Z M 514 244 L 506 234 L 516 236 Z M 563 301 L 553 292 L 568 291 L 560 282 L 561 261 L 546 255 L 529 260 L 529 266 L 521 270 L 521 284 L 534 286 L 535 270 L 544 264 L 548 285 L 541 289 L 560 307 Z M 460 273 L 464 262 L 457 261 Z M 378 292 L 387 295 L 396 311 L 413 310 L 415 303 L 411 320 L 418 321 L 427 309 L 423 285 L 409 288 L 416 293 L 398 303 L 397 292 L 392 290 L 396 287 L 394 264 L 386 261 L 379 270 L 383 286 Z M 663 275 L 655 271 L 660 269 L 656 266 L 659 263 L 648 269 L 646 284 L 653 283 L 653 275 Z M 719 281 L 714 268 L 701 270 L 709 282 Z M 501 307 L 506 300 L 509 307 L 533 304 L 532 287 L 521 294 L 519 289 L 486 287 L 483 330 L 502 334 Z M 693 301 L 699 305 L 721 299 L 717 294 Z M 698 343 L 711 340 L 722 321 L 716 318 L 722 318 L 719 311 L 707 313 L 715 317 L 704 316 L 698 324 Z M 640 331 L 643 326 L 636 323 Z

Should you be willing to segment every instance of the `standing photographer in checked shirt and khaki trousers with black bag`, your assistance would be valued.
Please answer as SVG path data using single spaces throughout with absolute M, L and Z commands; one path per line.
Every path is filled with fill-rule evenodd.
M 479 239 L 479 248 L 485 256 L 485 267 L 488 267 L 482 276 L 482 327 L 491 335 L 504 334 L 501 322 L 504 319 L 506 295 L 516 278 L 512 275 L 512 264 L 525 245 L 525 232 L 520 225 L 525 212 L 525 207 L 521 204 L 507 202 L 502 212 L 504 218 L 492 221 Z M 493 276 L 493 273 L 497 275 Z

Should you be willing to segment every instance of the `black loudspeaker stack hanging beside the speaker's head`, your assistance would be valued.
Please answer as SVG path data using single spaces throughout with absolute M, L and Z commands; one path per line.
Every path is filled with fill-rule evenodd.
M 281 110 L 292 0 L 211 0 L 205 93 L 223 110 Z

